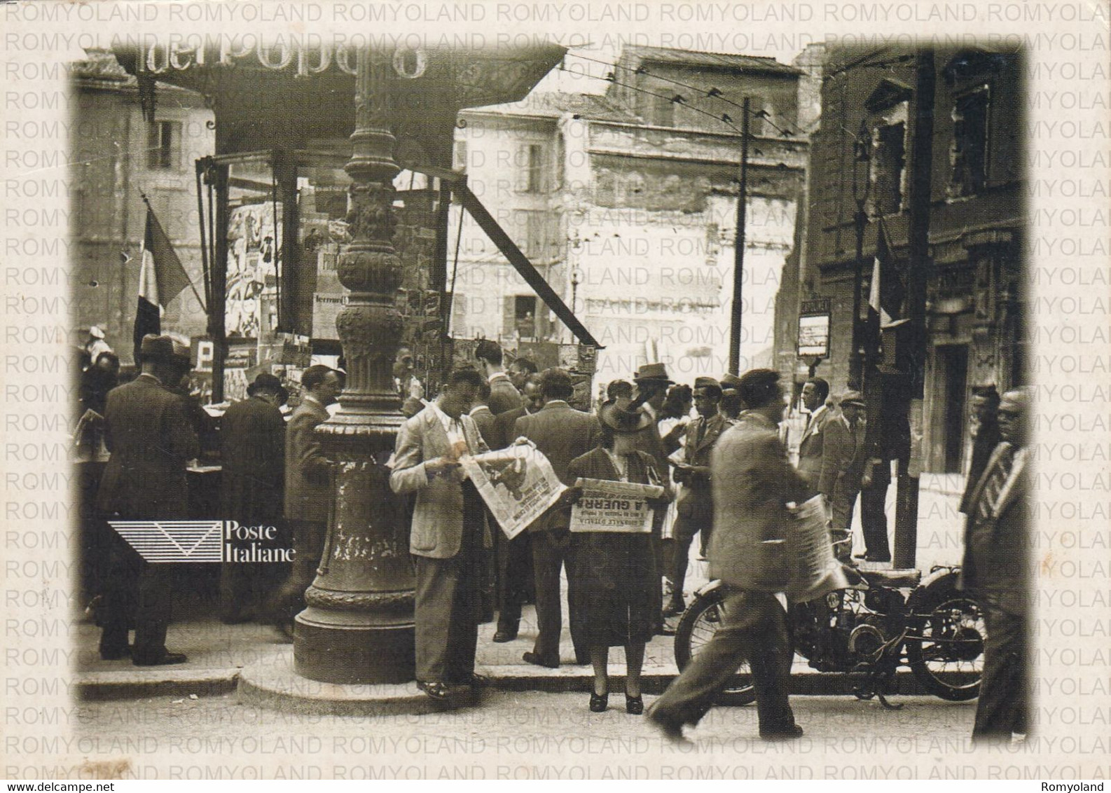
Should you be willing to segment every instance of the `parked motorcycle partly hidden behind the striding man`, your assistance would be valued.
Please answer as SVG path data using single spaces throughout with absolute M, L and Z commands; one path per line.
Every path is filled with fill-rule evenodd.
M 858 570 L 860 580 L 817 600 L 788 606 L 794 651 L 820 672 L 860 675 L 858 699 L 878 697 L 884 707 L 895 671 L 910 666 L 929 693 L 943 700 L 971 700 L 983 675 L 983 615 L 957 589 L 959 569 L 935 566 L 922 580 L 918 570 Z M 675 629 L 675 662 L 682 671 L 718 630 L 722 584 L 695 592 Z M 743 705 L 755 699 L 748 664 L 718 696 L 718 704 Z

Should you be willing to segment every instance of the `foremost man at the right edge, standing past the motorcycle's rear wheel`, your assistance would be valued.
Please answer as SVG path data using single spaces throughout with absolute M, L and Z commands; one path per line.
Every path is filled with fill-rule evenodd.
M 980 603 L 988 639 L 973 740 L 1008 740 L 1029 729 L 1030 394 L 1008 391 L 999 403 L 995 446 L 970 499 L 961 585 Z

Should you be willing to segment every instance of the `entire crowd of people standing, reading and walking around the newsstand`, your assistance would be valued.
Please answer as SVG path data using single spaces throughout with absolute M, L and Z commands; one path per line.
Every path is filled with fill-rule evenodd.
M 111 453 L 98 506 L 122 519 L 186 518 L 186 461 L 197 455 L 189 409 L 173 391 L 188 371 L 188 352 L 170 337 L 142 340 L 141 373 L 103 399 L 104 442 Z M 787 394 L 768 369 L 720 380 L 677 384 L 662 363 L 642 365 L 630 380 L 610 382 L 594 405 L 572 406 L 574 383 L 559 368 L 537 371 L 524 358 L 507 368 L 501 348 L 482 341 L 472 367 L 452 371 L 426 401 L 404 367 L 402 424 L 390 466 L 394 493 L 412 499 L 410 553 L 416 574 L 416 670 L 430 697 L 481 685 L 474 672 L 478 626 L 493 619 L 492 641 L 518 639 L 522 606 L 536 604 L 537 631 L 522 661 L 548 669 L 590 664 L 589 706 L 608 706 L 609 649 L 624 649 L 625 710 L 644 712 L 640 672 L 648 641 L 684 609 L 695 535 L 711 576 L 727 589 L 724 618 L 713 640 L 650 709 L 664 734 L 681 737 L 699 721 L 714 692 L 748 661 L 757 692 L 760 733 L 801 734 L 788 702 L 791 643 L 775 594 L 785 586 L 782 539 L 789 505 L 821 493 L 838 558 L 851 559 L 851 520 L 860 496 L 864 549 L 859 556 L 890 561 L 883 502 L 891 461 L 870 438 L 863 396 L 830 399 L 829 384 L 809 380 L 801 401 L 809 416 L 792 464 L 779 426 Z M 297 551 L 292 569 L 269 578 L 262 566 L 227 565 L 221 578 L 226 622 L 264 620 L 291 632 L 304 590 L 320 563 L 332 493 L 327 458 L 314 429 L 329 418 L 343 374 L 312 365 L 301 377 L 300 403 L 288 421 L 278 378 L 256 378 L 247 400 L 223 415 L 222 516 L 244 524 L 284 522 Z M 978 432 L 969 491 L 965 578 L 982 593 L 989 624 L 984 694 L 977 729 L 991 734 L 1024 729 L 1022 673 L 1025 638 L 1015 561 L 1025 494 L 1024 394 L 977 393 Z M 1000 416 L 997 425 L 992 416 Z M 460 459 L 528 442 L 565 485 L 560 499 L 528 529 L 507 539 L 469 481 Z M 1005 449 L 1004 449 L 1005 448 Z M 1018 451 L 1017 451 L 1018 450 Z M 580 479 L 655 484 L 650 533 L 577 533 L 571 511 Z M 151 486 L 157 482 L 158 486 Z M 1024 529 L 1023 529 L 1024 531 Z M 118 538 L 112 585 L 101 593 L 100 652 L 138 665 L 183 662 L 166 648 L 170 593 L 164 579 Z M 1004 571 L 1000 574 L 1000 571 Z M 563 596 L 573 659 L 560 656 Z M 136 640 L 128 643 L 128 629 Z M 987 704 L 985 704 L 987 703 Z M 1018 703 L 1018 704 L 1015 704 Z M 990 712 L 989 712 L 990 711 Z

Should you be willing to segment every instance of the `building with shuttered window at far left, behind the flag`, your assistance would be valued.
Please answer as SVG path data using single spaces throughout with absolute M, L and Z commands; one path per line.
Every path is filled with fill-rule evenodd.
M 70 240 L 74 337 L 99 325 L 120 359 L 132 355 L 146 194 L 181 263 L 203 294 L 194 161 L 216 144 L 212 111 L 192 91 L 159 83 L 153 121 L 136 78 L 110 52 L 72 67 Z M 166 307 L 164 330 L 206 330 L 191 290 Z

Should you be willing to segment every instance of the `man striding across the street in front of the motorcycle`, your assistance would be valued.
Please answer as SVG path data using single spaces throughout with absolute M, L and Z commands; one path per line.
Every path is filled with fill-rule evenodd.
M 738 390 L 749 410 L 718 439 L 711 458 L 710 575 L 724 588 L 722 622 L 648 712 L 672 741 L 683 740 L 683 725 L 699 722 L 744 661 L 752 670 L 760 736 L 781 741 L 802 734 L 788 700 L 791 642 L 775 593 L 787 588 L 790 569 L 782 543 L 787 504 L 801 501 L 807 485 L 775 428 L 784 408 L 779 374 L 751 370 Z

